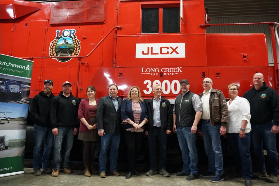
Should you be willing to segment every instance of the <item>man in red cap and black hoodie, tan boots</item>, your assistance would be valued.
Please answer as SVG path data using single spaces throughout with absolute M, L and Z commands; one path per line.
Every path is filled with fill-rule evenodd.
M 70 151 L 73 146 L 74 135 L 78 134 L 79 100 L 71 93 L 72 84 L 69 81 L 62 83 L 62 91 L 52 100 L 51 126 L 53 140 L 53 170 L 51 176 L 57 177 L 59 168 L 65 174 L 71 174 L 69 168 Z

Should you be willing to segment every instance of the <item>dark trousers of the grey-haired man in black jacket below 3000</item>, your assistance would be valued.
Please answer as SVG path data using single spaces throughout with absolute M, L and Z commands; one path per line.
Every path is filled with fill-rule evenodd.
M 161 168 L 166 169 L 167 159 L 167 133 L 162 131 L 161 127 L 153 127 L 151 133 L 148 134 L 149 144 L 149 162 L 150 169 L 153 171 L 157 170 L 157 139 L 159 142 L 159 170 Z

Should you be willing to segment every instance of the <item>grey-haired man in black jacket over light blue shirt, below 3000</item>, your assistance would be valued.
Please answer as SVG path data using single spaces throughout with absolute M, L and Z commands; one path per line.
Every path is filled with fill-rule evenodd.
M 161 85 L 154 85 L 154 98 L 147 102 L 149 122 L 145 135 L 148 135 L 150 170 L 145 175 L 152 176 L 157 173 L 156 146 L 158 139 L 160 150 L 159 172 L 164 177 L 169 177 L 169 173 L 166 171 L 167 135 L 171 133 L 172 129 L 172 109 L 169 100 L 164 99 L 161 93 Z

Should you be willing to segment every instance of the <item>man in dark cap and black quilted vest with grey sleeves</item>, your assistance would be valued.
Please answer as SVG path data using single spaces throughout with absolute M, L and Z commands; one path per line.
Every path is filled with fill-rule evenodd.
M 187 79 L 180 81 L 179 94 L 174 101 L 173 131 L 176 133 L 182 151 L 183 170 L 176 176 L 186 176 L 186 180 L 198 178 L 198 150 L 196 148 L 197 125 L 201 119 L 203 106 L 201 98 L 189 90 Z

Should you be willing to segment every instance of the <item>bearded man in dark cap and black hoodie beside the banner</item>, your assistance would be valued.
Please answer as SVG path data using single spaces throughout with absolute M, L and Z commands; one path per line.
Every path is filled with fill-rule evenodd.
M 53 148 L 53 134 L 50 124 L 51 101 L 54 98 L 51 92 L 53 82 L 50 79 L 44 81 L 44 91 L 34 96 L 30 106 L 31 119 L 34 121 L 35 146 L 33 151 L 34 175 L 42 174 L 43 171 L 51 173 L 50 155 Z

